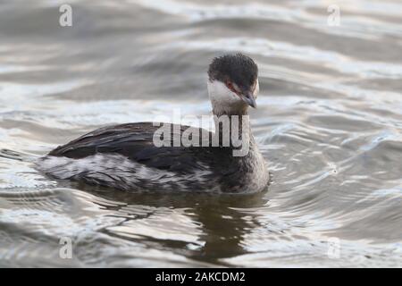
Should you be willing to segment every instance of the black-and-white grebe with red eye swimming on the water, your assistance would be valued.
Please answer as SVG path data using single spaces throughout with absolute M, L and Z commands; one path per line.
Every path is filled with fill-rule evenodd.
M 210 142 L 215 135 L 222 138 L 228 132 L 219 122 L 222 116 L 230 123 L 237 116 L 240 138 L 247 143 L 244 156 L 233 155 L 239 147 L 231 138 L 228 146 L 207 143 L 199 144 L 201 147 L 156 147 L 154 134 L 159 127 L 153 122 L 138 122 L 104 127 L 72 140 L 41 158 L 38 168 L 56 179 L 130 191 L 262 191 L 268 185 L 269 172 L 248 123 L 242 119 L 247 118 L 248 106 L 256 106 L 257 75 L 255 62 L 246 55 L 214 58 L 208 69 L 207 87 L 216 133 L 172 124 L 172 137 L 167 139 L 171 143 L 174 130 L 182 135 L 189 128 L 195 131 L 193 141 L 205 142 L 197 134 L 206 132 Z

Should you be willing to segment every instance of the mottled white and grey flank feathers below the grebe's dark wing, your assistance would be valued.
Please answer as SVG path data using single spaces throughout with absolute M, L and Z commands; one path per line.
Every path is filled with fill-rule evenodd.
M 200 163 L 199 163 L 200 164 Z M 178 174 L 148 167 L 129 158 L 113 154 L 96 154 L 81 159 L 46 156 L 37 162 L 42 172 L 62 180 L 85 180 L 118 189 L 182 189 L 188 190 L 194 183 L 212 182 L 212 172 L 206 165 L 203 170 Z M 208 186 L 212 187 L 212 186 Z M 211 191 L 219 191 L 210 188 Z

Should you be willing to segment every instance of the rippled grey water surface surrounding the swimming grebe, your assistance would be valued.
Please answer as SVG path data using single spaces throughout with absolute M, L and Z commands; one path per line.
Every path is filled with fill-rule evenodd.
M 127 194 L 0 158 L 0 265 L 402 266 L 402 3 L 336 2 L 339 27 L 333 1 L 70 1 L 63 28 L 64 1 L 0 1 L 0 148 L 209 114 L 207 64 L 242 51 L 273 174 L 255 195 Z

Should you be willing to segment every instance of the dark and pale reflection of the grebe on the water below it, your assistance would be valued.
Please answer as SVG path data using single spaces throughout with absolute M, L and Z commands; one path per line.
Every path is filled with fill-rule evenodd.
M 143 241 L 146 237 L 151 239 L 149 243 L 154 248 L 183 252 L 209 263 L 247 253 L 244 236 L 261 225 L 258 215 L 244 213 L 243 209 L 268 204 L 266 192 L 252 195 L 115 193 L 101 188 L 94 192 L 93 188 L 82 185 L 80 189 L 122 204 L 110 207 L 115 212 L 113 215 L 125 218 L 119 225 L 105 230 L 110 235 L 133 241 Z

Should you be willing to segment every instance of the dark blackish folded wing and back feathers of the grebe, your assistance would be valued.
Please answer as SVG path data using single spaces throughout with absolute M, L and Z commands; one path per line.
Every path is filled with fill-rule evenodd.
M 205 167 L 213 172 L 232 173 L 236 166 L 230 149 L 222 147 L 155 147 L 152 122 L 127 123 L 94 130 L 79 139 L 55 148 L 49 156 L 74 159 L 96 153 L 120 154 L 140 164 L 174 172 L 192 172 Z M 188 126 L 180 126 L 180 132 Z M 201 131 L 201 130 L 199 130 Z M 199 134 L 202 134 L 199 132 Z M 195 134 L 197 136 L 197 134 Z M 199 139 L 200 140 L 200 139 Z M 172 142 L 172 138 L 171 138 Z M 200 141 L 201 144 L 201 141 Z M 232 162 L 233 161 L 233 162 Z M 223 166 L 227 166 L 222 169 Z M 221 166 L 219 168 L 218 166 Z M 230 167 L 231 166 L 231 167 Z

